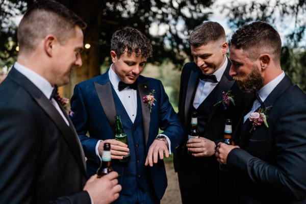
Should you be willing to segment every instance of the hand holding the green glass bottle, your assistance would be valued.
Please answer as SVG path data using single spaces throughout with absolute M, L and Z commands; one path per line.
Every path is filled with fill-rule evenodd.
M 103 152 L 103 145 L 105 142 L 111 144 L 111 158 L 112 159 L 123 159 L 123 156 L 127 155 L 127 152 L 130 151 L 127 148 L 127 145 L 123 142 L 117 141 L 115 139 L 103 140 L 99 143 L 98 152 L 99 155 L 102 155 Z

